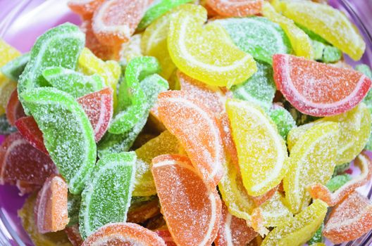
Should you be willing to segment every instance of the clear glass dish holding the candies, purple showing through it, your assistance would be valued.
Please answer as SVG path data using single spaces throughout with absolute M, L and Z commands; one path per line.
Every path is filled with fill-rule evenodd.
M 66 2 L 67 0 L 0 0 L 0 37 L 22 52 L 29 51 L 35 39 L 49 28 L 66 21 L 80 23 L 77 15 L 70 12 Z M 357 63 L 372 65 L 372 0 L 330 0 L 330 4 L 345 12 L 366 41 L 366 53 Z M 347 62 L 357 64 L 349 58 Z M 3 139 L 0 136 L 0 143 Z M 354 171 L 353 175 L 357 174 Z M 359 192 L 372 200 L 372 182 L 359 188 Z M 25 198 L 20 197 L 18 189 L 13 186 L 0 186 L 0 245 L 33 245 L 17 216 Z M 327 242 L 327 245 L 332 244 Z M 372 245 L 372 231 L 343 245 Z

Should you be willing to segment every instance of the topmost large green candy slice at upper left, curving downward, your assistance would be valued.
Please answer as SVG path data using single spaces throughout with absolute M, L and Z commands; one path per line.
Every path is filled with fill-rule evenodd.
M 30 51 L 30 60 L 18 82 L 18 94 L 23 103 L 23 91 L 47 86 L 42 76 L 46 67 L 66 67 L 75 70 L 77 58 L 85 44 L 85 37 L 79 27 L 65 23 L 45 32 L 35 42 Z M 29 110 L 25 105 L 25 112 Z

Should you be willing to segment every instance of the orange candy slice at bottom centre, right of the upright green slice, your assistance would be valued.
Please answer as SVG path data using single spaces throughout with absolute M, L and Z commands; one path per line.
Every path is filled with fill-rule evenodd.
M 213 183 L 203 179 L 185 155 L 160 155 L 152 164 L 162 214 L 175 243 L 211 245 L 222 206 Z

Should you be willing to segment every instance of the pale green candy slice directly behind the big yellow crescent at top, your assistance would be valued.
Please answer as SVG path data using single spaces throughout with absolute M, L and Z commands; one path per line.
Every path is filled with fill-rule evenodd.
M 237 47 L 256 60 L 273 63 L 273 54 L 292 53 L 292 46 L 280 25 L 263 17 L 215 20 L 225 27 Z

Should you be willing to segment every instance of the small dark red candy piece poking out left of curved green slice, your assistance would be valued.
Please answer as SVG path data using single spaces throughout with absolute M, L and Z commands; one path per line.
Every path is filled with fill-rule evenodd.
M 40 131 L 34 117 L 26 116 L 17 119 L 16 127 L 20 135 L 25 138 L 33 147 L 49 155 L 48 150 L 46 150 L 44 145 L 44 138 L 42 136 L 42 131 Z

